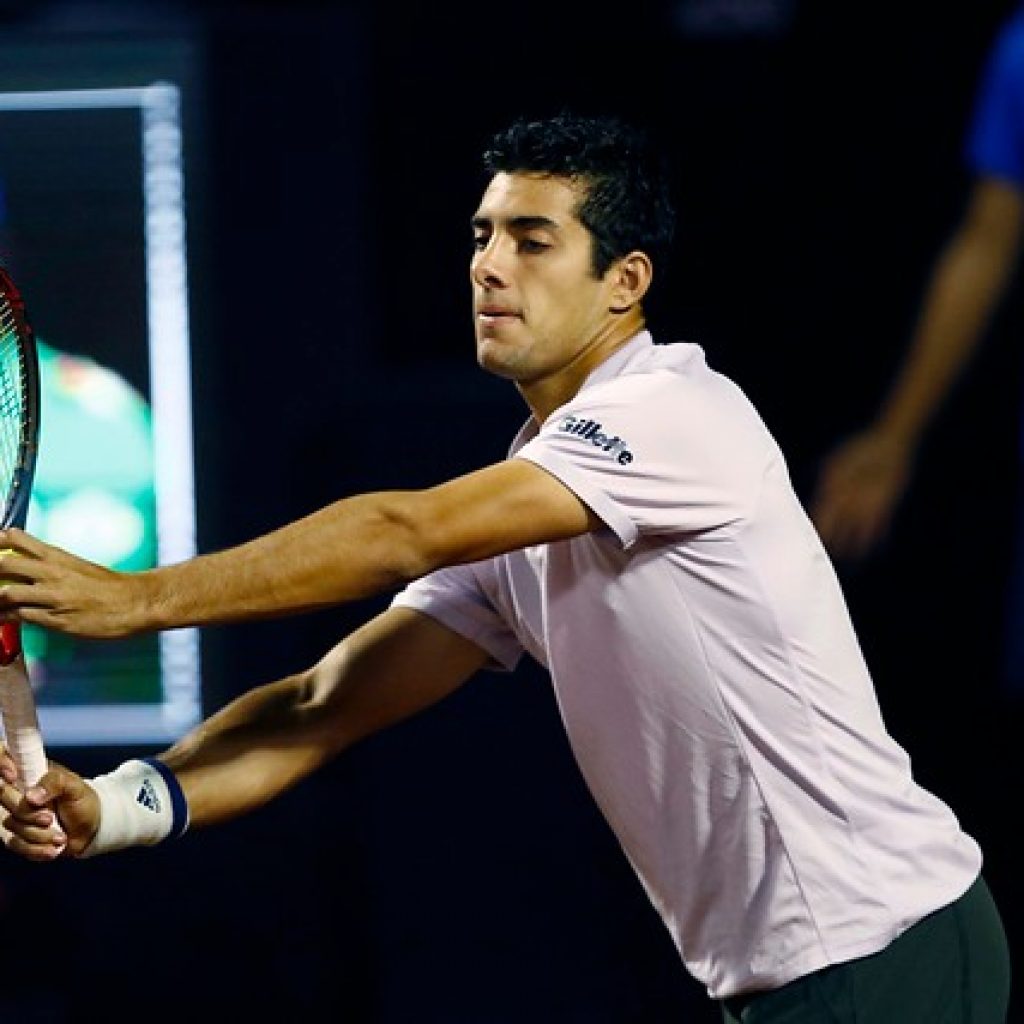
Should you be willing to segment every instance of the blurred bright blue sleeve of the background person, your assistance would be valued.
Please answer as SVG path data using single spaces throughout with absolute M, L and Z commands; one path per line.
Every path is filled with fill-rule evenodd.
M 1024 187 L 1024 15 L 996 39 L 982 73 L 966 156 L 977 174 Z

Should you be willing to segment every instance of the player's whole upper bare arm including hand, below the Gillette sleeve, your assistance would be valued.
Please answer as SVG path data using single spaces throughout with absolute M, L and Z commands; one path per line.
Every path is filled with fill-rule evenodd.
M 523 460 L 426 490 L 360 495 L 239 547 L 141 573 L 0 535 L 0 610 L 81 636 L 288 614 L 377 594 L 442 565 L 594 529 L 600 520 Z

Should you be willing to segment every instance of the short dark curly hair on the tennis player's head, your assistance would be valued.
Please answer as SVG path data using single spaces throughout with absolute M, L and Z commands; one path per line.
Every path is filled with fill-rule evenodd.
M 490 140 L 483 166 L 494 175 L 552 174 L 586 186 L 577 216 L 594 240 L 592 266 L 600 276 L 635 249 L 655 264 L 675 231 L 670 175 L 647 134 L 615 117 L 559 114 L 520 118 Z

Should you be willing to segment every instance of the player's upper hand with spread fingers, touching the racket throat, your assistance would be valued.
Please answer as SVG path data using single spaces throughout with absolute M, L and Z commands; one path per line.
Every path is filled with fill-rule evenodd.
M 24 530 L 0 531 L 0 620 L 96 638 L 137 629 L 137 574 L 115 572 Z

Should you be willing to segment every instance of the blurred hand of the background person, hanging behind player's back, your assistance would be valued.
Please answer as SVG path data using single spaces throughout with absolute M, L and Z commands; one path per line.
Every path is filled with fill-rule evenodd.
M 912 461 L 912 452 L 882 430 L 856 434 L 828 457 L 811 518 L 834 555 L 861 557 L 882 540 L 906 490 Z

